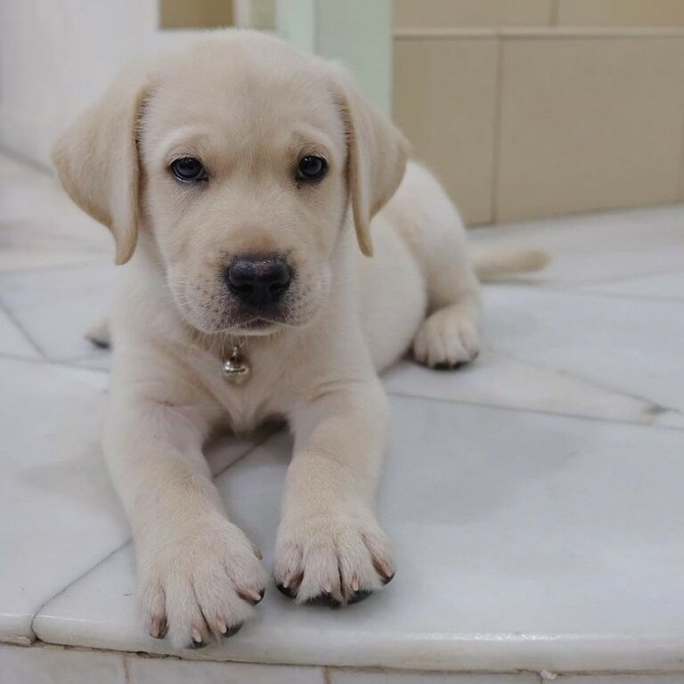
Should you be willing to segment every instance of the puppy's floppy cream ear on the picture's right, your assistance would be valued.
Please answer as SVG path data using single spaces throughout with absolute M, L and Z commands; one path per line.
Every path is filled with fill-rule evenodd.
M 344 69 L 334 68 L 338 106 L 346 126 L 346 175 L 356 239 L 373 255 L 371 218 L 402 182 L 409 143 L 399 129 L 359 92 Z

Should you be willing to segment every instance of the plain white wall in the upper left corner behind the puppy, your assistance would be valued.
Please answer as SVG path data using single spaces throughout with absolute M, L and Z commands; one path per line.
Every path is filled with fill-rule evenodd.
M 157 22 L 156 0 L 0 0 L 0 146 L 49 164 L 121 64 L 187 39 Z

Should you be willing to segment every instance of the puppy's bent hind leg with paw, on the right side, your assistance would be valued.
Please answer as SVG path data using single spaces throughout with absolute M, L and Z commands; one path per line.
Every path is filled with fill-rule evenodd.
M 428 290 L 428 316 L 413 342 L 416 361 L 452 369 L 479 352 L 479 282 L 459 213 L 436 179 L 411 164 L 388 213 L 411 248 Z

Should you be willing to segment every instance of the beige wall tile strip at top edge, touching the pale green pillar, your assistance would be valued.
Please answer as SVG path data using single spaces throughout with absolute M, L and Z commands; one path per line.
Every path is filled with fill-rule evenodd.
M 395 28 L 548 26 L 552 0 L 394 0 Z

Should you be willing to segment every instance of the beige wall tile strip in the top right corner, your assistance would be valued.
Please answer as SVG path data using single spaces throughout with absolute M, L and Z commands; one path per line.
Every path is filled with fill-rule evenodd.
M 560 26 L 683 26 L 682 0 L 558 0 Z

